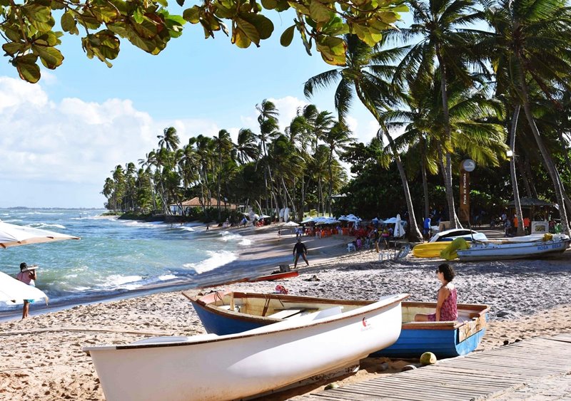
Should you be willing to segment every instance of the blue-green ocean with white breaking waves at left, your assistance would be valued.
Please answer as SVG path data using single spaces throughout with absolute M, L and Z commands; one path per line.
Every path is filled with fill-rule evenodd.
M 252 240 L 235 232 L 205 230 L 204 224 L 166 224 L 103 217 L 104 209 L 0 209 L 0 220 L 81 237 L 81 240 L 0 249 L 0 271 L 37 264 L 36 286 L 61 308 L 193 288 L 251 276 L 258 265 L 239 261 Z M 266 262 L 267 263 L 267 262 Z M 38 310 L 31 306 L 31 313 Z M 45 308 L 42 306 L 41 308 Z M 0 318 L 21 306 L 0 303 Z

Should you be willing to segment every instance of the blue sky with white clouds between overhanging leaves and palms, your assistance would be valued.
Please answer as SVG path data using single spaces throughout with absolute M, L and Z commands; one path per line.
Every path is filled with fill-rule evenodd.
M 181 13 L 176 5 L 171 12 Z M 205 40 L 186 24 L 180 38 L 151 56 L 121 40 L 113 67 L 89 60 L 78 36 L 62 37 L 64 63 L 42 68 L 39 83 L 21 80 L 9 58 L 0 58 L 0 208 L 103 207 L 103 184 L 116 165 L 145 158 L 157 135 L 176 127 L 181 145 L 194 135 L 226 129 L 258 132 L 256 105 L 271 100 L 281 130 L 308 103 L 335 113 L 333 88 L 307 99 L 303 83 L 333 68 L 295 36 L 279 43 L 292 24 L 288 14 L 266 14 L 271 38 L 240 49 L 223 33 Z M 348 119 L 353 136 L 370 141 L 378 126 L 355 103 Z

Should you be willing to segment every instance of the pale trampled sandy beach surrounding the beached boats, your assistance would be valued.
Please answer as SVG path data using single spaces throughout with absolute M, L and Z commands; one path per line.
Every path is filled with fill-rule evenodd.
M 291 261 L 293 234 L 277 227 L 236 229 L 251 235 L 253 246 L 243 259 Z M 293 232 L 293 231 L 292 231 Z M 435 301 L 438 259 L 379 261 L 374 250 L 351 252 L 350 237 L 304 239 L 310 266 L 287 281 L 235 283 L 215 288 L 272 292 L 280 284 L 292 294 L 329 298 L 375 299 L 391 293 L 409 293 L 410 301 Z M 454 263 L 458 302 L 491 306 L 487 333 L 479 350 L 538 335 L 571 333 L 571 251 L 541 261 Z M 305 265 L 300 261 L 298 267 Z M 268 266 L 268 272 L 276 265 Z M 208 292 L 213 288 L 205 288 Z M 31 306 L 33 311 L 34 305 Z M 0 323 L 1 400 L 103 400 L 85 345 L 130 343 L 155 335 L 204 333 L 191 303 L 181 291 L 156 293 L 120 301 L 93 303 L 63 311 L 31 316 L 25 321 Z M 388 369 L 381 362 L 388 362 Z M 395 373 L 410 362 L 367 358 L 361 370 L 340 384 Z M 386 365 L 385 365 L 386 366 Z M 293 397 L 323 389 L 318 383 L 273 397 Z M 267 397 L 266 397 L 267 399 Z

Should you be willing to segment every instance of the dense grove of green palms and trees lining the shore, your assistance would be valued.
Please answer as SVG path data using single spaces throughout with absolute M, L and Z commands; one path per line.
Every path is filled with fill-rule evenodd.
M 419 218 L 437 212 L 452 226 L 460 223 L 457 167 L 470 158 L 477 163 L 471 207 L 480 224 L 499 216 L 514 197 L 521 219 L 521 188 L 527 197 L 554 199 L 568 232 L 571 41 L 565 1 L 408 4 L 410 26 L 386 26 L 371 38 L 344 30 L 338 25 L 343 18 L 326 22 L 325 9 L 314 4 L 311 18 L 339 28 L 334 36 L 343 43 L 344 62 L 336 62 L 341 42 L 319 45 L 335 68 L 308 78 L 304 90 L 310 98 L 333 88 L 335 114 L 305 105 L 282 132 L 279 110 L 265 99 L 256 105 L 257 127 L 241 129 L 236 143 L 221 130 L 181 145 L 176 130 L 167 128 L 138 170 L 126 163 L 111 171 L 102 192 L 108 209 L 169 215 L 173 205 L 182 209 L 184 199 L 199 197 L 201 210 L 215 207 L 207 216 L 218 221 L 230 203 L 273 218 L 288 207 L 298 221 L 309 211 L 365 219 L 401 213 L 410 222 L 410 239 L 420 239 Z M 193 10 L 186 18 L 202 23 Z M 298 11 L 302 18 L 305 10 Z M 236 44 L 261 43 L 255 31 L 260 40 L 268 34 L 261 21 L 259 29 L 252 21 L 236 24 Z M 297 25 L 286 28 L 282 43 L 299 32 Z M 355 100 L 378 123 L 368 143 L 355 141 L 348 129 Z M 340 193 L 346 196 L 334 199 Z M 202 218 L 198 212 L 193 217 Z

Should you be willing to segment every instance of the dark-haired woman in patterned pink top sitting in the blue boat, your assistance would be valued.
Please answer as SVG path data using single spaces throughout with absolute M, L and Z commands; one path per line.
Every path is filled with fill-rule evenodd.
M 456 307 L 456 288 L 452 283 L 454 269 L 449 264 L 443 263 L 436 269 L 436 276 L 442 286 L 438 290 L 438 301 L 436 303 L 436 313 L 418 313 L 415 316 L 417 322 L 440 322 L 455 321 L 458 319 L 458 308 Z

